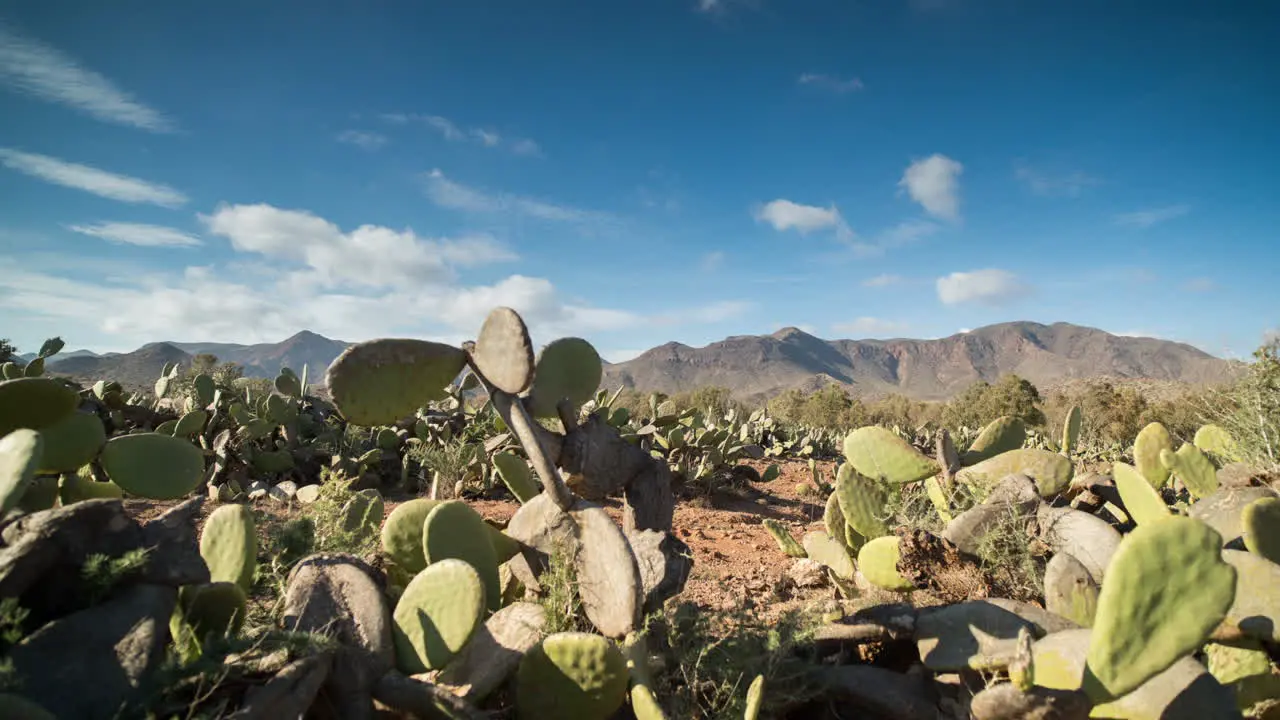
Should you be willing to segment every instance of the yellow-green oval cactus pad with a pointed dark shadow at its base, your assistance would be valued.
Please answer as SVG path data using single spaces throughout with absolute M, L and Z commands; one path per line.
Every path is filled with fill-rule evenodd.
M 406 675 L 444 667 L 480 625 L 484 593 L 480 574 L 462 560 L 440 560 L 415 575 L 392 612 L 397 667 Z

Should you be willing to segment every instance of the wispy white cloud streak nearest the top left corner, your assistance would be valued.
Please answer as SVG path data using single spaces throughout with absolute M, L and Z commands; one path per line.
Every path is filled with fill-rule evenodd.
M 65 53 L 22 37 L 0 23 L 0 83 L 87 113 L 100 120 L 152 132 L 174 129 L 172 120 Z

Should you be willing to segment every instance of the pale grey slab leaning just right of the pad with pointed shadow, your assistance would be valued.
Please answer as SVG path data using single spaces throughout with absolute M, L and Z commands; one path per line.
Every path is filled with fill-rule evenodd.
M 532 602 L 516 602 L 494 612 L 439 673 L 436 682 L 451 685 L 476 702 L 498 689 L 520 660 L 547 634 L 547 611 Z

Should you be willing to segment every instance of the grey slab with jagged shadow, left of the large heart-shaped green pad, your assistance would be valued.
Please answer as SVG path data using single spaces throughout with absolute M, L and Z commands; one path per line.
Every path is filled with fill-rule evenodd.
M 1012 657 L 1019 629 L 1043 637 L 1074 626 L 1025 602 L 974 600 L 922 609 L 915 618 L 915 646 L 933 671 L 1000 667 Z

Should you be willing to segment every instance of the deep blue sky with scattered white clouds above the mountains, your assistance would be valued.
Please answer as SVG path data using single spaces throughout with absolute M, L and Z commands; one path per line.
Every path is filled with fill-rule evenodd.
M 323 5 L 0 5 L 0 336 L 1280 327 L 1272 4 Z

